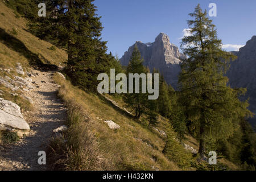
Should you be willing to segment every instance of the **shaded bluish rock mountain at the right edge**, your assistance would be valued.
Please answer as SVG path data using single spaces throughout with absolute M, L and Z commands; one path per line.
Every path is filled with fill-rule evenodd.
M 247 88 L 247 93 L 242 99 L 250 97 L 249 109 L 256 114 L 256 36 L 247 41 L 238 52 L 232 52 L 237 56 L 227 73 L 232 88 Z M 249 121 L 256 125 L 256 115 Z

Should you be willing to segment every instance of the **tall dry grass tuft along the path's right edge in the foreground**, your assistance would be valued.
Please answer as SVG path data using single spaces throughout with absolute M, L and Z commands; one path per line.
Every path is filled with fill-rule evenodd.
M 106 160 L 99 152 L 98 142 L 88 129 L 89 118 L 75 101 L 67 100 L 68 131 L 63 138 L 51 141 L 48 147 L 51 169 L 63 170 L 102 170 Z

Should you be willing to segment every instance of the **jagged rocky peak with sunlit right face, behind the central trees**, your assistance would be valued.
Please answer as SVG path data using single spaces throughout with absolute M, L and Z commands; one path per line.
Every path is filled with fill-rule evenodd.
M 163 74 L 164 79 L 176 87 L 177 75 L 180 72 L 180 58 L 184 55 L 179 52 L 179 48 L 170 43 L 168 35 L 160 33 L 154 43 L 142 43 L 137 41 L 120 59 L 122 65 L 128 65 L 135 45 L 138 47 L 144 59 L 144 65 L 152 71 L 158 69 Z

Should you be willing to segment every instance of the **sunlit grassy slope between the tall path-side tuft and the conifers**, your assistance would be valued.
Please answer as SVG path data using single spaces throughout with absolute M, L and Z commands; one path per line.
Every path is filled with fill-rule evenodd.
M 64 101 L 75 101 L 89 116 L 89 130 L 100 145 L 101 155 L 108 160 L 106 169 L 178 170 L 175 163 L 163 154 L 164 139 L 134 120 L 129 114 L 117 110 L 110 102 L 92 93 L 86 93 L 60 77 L 60 96 Z M 101 120 L 102 119 L 102 120 Z M 104 119 L 112 120 L 121 128 L 111 130 Z

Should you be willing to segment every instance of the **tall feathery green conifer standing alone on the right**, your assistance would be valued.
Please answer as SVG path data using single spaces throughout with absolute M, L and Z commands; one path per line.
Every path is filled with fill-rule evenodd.
M 200 141 L 199 154 L 205 152 L 205 135 L 212 129 L 216 139 L 226 138 L 238 127 L 240 118 L 251 114 L 247 102 L 238 97 L 246 89 L 232 89 L 224 76 L 230 59 L 236 56 L 221 49 L 221 40 L 207 11 L 197 5 L 189 14 L 190 36 L 182 39 L 181 49 L 187 59 L 182 60 L 179 75 L 180 102 L 187 119 L 192 121 Z

